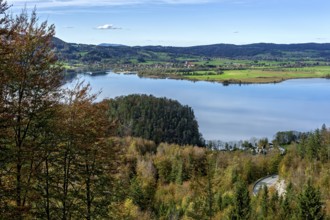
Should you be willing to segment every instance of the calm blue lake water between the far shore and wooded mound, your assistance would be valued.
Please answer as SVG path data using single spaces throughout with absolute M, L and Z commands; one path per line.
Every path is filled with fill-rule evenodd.
M 99 99 L 152 94 L 193 108 L 206 140 L 273 138 L 277 131 L 330 126 L 330 80 L 297 79 L 278 84 L 229 85 L 109 73 L 80 77 Z M 71 83 L 72 85 L 72 83 Z

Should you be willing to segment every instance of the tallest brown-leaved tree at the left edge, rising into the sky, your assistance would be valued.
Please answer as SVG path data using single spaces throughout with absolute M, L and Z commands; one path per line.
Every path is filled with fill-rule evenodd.
M 1 10 L 6 9 L 1 1 Z M 7 18 L 9 19 L 9 18 Z M 61 68 L 56 65 L 52 49 L 55 34 L 53 25 L 39 24 L 36 12 L 28 15 L 24 10 L 9 20 L 1 20 L 1 121 L 8 149 L 10 170 L 7 180 L 14 189 L 10 194 L 15 200 L 17 218 L 28 212 L 33 195 L 32 184 L 40 158 L 39 136 L 34 132 L 46 126 L 45 114 L 58 100 L 61 85 Z M 39 129 L 40 130 L 40 129 Z

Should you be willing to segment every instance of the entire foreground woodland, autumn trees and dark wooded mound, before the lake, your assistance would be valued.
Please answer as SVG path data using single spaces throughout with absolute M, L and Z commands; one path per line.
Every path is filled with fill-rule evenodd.
M 188 106 L 147 96 L 97 103 L 84 82 L 64 89 L 54 26 L 7 10 L 0 0 L 0 219 L 329 218 L 326 126 L 286 141 L 286 154 L 197 147 Z M 253 183 L 274 173 L 286 193 L 253 196 Z

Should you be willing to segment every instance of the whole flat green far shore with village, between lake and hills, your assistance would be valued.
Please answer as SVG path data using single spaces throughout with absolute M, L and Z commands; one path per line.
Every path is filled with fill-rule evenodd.
M 139 57 L 127 60 L 109 59 L 103 60 L 101 65 L 79 62 L 62 62 L 62 64 L 67 70 L 95 70 L 100 66 L 103 69 L 107 66 L 106 68 L 109 67 L 114 71 L 138 72 L 144 77 L 170 77 L 224 83 L 274 83 L 298 78 L 330 78 L 330 63 L 324 60 L 239 60 L 174 56 L 163 52 L 143 52 L 142 54 L 143 59 Z

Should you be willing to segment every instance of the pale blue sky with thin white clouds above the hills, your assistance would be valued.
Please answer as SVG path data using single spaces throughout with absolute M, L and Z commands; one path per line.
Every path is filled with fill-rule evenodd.
M 330 42 L 329 0 L 7 0 L 67 42 L 192 46 Z

